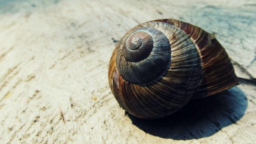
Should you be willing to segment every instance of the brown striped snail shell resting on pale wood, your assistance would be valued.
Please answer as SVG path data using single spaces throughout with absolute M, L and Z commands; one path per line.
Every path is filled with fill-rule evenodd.
M 125 34 L 113 51 L 108 78 L 119 105 L 142 119 L 171 115 L 193 98 L 238 84 L 213 34 L 174 19 L 145 22 Z

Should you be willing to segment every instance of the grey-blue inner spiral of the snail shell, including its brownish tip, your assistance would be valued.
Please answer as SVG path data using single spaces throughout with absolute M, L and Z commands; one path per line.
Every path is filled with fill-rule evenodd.
M 119 74 L 133 84 L 145 84 L 162 75 L 171 59 L 170 41 L 160 30 L 143 27 L 134 30 L 118 49 Z

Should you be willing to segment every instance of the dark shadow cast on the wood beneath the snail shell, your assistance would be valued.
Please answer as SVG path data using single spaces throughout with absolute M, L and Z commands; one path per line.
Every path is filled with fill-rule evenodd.
M 238 87 L 193 100 L 184 108 L 158 120 L 143 120 L 128 114 L 132 124 L 166 139 L 190 140 L 212 136 L 223 127 L 236 124 L 247 109 L 247 98 Z

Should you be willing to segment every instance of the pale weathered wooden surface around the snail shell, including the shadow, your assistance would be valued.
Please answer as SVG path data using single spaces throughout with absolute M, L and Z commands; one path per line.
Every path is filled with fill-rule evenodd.
M 256 2 L 0 0 L 0 143 L 255 143 Z M 226 49 L 241 84 L 155 121 L 125 115 L 108 85 L 117 41 L 174 18 Z

